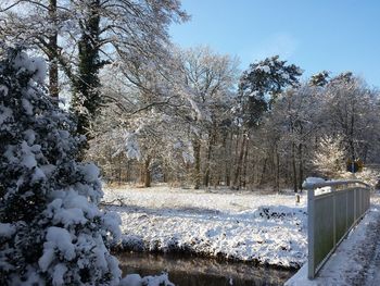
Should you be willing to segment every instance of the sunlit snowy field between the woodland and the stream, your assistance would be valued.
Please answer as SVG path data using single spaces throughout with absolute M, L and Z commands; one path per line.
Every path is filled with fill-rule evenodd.
M 105 188 L 124 245 L 297 268 L 306 261 L 306 197 L 159 186 Z M 118 206 L 117 206 L 118 204 Z

